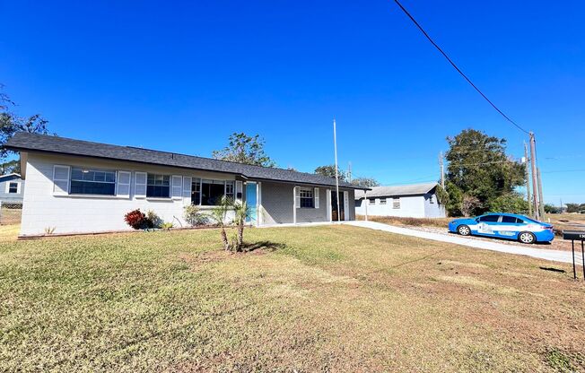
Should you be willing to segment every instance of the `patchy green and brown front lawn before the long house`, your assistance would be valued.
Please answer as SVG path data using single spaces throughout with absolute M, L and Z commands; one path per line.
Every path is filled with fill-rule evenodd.
M 568 265 L 349 226 L 28 241 L 0 227 L 2 371 L 585 369 Z M 564 369 L 564 370 L 563 370 Z

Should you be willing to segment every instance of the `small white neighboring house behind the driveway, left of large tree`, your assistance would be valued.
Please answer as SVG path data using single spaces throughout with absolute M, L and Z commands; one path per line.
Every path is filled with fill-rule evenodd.
M 426 183 L 374 186 L 367 193 L 356 190 L 355 213 L 368 216 L 444 218 L 445 206 L 439 203 L 436 189 L 436 183 Z

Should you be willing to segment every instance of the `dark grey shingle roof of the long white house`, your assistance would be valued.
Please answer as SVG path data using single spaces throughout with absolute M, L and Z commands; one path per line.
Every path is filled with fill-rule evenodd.
M 252 166 L 226 160 L 214 160 L 211 158 L 195 157 L 192 155 L 172 152 L 159 152 L 131 146 L 92 143 L 45 134 L 28 134 L 23 132 L 14 134 L 8 143 L 6 143 L 6 148 L 22 152 L 52 152 L 98 157 L 109 160 L 130 160 L 140 163 L 181 167 L 186 169 L 203 169 L 242 175 L 246 178 L 285 181 L 318 186 L 336 185 L 335 178 L 327 178 L 320 175 L 291 171 L 288 169 Z M 360 188 L 342 181 L 339 182 L 339 186 L 352 189 Z

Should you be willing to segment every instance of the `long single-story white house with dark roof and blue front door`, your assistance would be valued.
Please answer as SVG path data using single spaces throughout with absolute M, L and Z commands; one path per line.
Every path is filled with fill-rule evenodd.
M 335 179 L 172 152 L 90 143 L 41 134 L 15 134 L 26 179 L 21 235 L 128 230 L 124 215 L 153 210 L 186 225 L 184 207 L 213 208 L 223 195 L 247 201 L 254 225 L 354 220 L 354 190 Z

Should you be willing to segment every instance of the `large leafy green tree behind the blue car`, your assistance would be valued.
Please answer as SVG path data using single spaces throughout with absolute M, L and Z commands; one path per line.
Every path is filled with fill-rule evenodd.
M 446 189 L 450 195 L 447 204 L 450 215 L 461 213 L 466 197 L 466 208 L 472 209 L 468 213 L 485 213 L 493 200 L 510 195 L 524 184 L 525 168 L 506 154 L 505 139 L 466 129 L 448 137 L 447 142 L 450 149 L 445 155 L 449 162 Z M 471 201 L 474 203 L 469 204 Z

